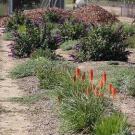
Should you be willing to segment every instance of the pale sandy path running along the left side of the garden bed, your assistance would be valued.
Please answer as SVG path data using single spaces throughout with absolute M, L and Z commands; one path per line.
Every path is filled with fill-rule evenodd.
M 23 95 L 16 81 L 9 77 L 9 71 L 17 61 L 8 57 L 8 44 L 9 41 L 0 39 L 0 135 L 27 135 L 30 126 L 26 117 L 27 107 L 8 100 Z

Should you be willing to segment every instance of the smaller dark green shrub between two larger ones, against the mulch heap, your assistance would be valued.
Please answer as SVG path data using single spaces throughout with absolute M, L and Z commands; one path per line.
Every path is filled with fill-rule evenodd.
M 87 35 L 86 26 L 75 20 L 68 20 L 59 26 L 59 30 L 64 39 L 76 40 Z

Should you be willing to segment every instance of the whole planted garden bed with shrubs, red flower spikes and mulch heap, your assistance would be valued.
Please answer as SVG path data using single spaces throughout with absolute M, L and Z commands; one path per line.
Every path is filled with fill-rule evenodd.
M 11 71 L 26 91 L 12 101 L 29 105 L 31 133 L 130 135 L 134 123 L 126 117 L 134 105 L 125 103 L 134 103 L 135 67 L 127 39 L 135 33 L 133 25 L 115 22 L 94 5 L 17 12 L 10 19 L 9 56 L 28 58 Z

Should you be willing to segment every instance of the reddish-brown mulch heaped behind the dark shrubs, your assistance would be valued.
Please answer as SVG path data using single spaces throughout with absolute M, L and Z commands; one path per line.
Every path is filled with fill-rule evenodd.
M 71 16 L 75 17 L 78 21 L 82 21 L 86 24 L 92 23 L 93 25 L 108 24 L 117 22 L 118 19 L 115 15 L 112 15 L 110 12 L 106 11 L 100 6 L 97 5 L 88 5 L 85 7 L 80 7 L 75 10 L 64 10 L 59 8 L 49 8 L 49 9 L 32 9 L 24 11 L 24 14 L 27 18 L 37 21 L 42 20 L 42 16 L 46 11 L 52 11 L 57 13 L 60 16 L 70 18 Z M 0 27 L 5 27 L 9 20 L 9 17 L 0 17 Z

